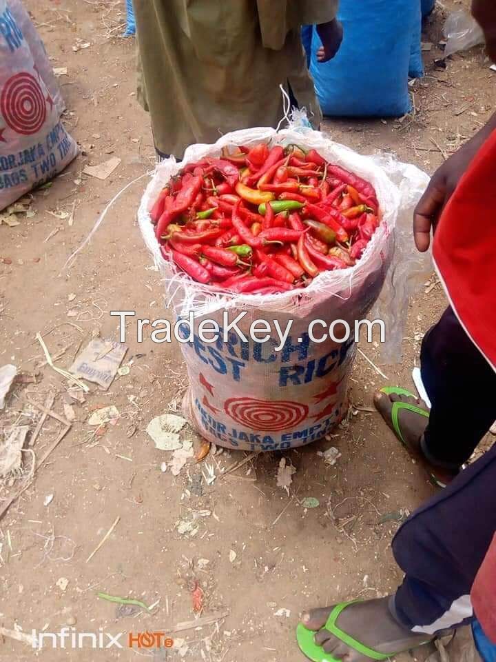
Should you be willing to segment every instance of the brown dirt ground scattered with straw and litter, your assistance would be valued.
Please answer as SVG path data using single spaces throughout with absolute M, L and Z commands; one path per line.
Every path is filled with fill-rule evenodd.
M 65 126 L 79 141 L 81 155 L 51 188 L 34 194 L 34 217 L 0 227 L 0 365 L 14 363 L 20 372 L 38 374 L 37 383 L 14 387 L 0 421 L 3 430 L 21 420 L 21 412 L 33 429 L 40 413 L 27 399 L 43 404 L 50 392 L 53 410 L 67 413 L 67 383 L 43 365 L 37 332 L 58 357 L 56 365 L 67 368 L 92 335 L 117 339 L 110 310 L 153 318 L 163 309 L 163 286 L 136 224 L 147 177 L 121 195 L 90 245 L 68 272 L 61 271 L 114 194 L 154 166 L 149 119 L 134 93 L 134 39 L 121 38 L 123 2 L 26 0 L 26 5 L 53 66 L 68 68 L 59 78 L 68 107 Z M 446 69 L 435 65 L 442 54 L 442 20 L 437 10 L 426 23 L 424 41 L 433 48 L 425 53 L 426 77 L 413 86 L 413 114 L 402 120 L 326 121 L 324 131 L 360 152 L 389 150 L 428 172 L 442 163 L 443 153 L 471 137 L 495 107 L 496 74 L 481 48 L 455 55 Z M 86 42 L 89 47 L 74 51 Z M 110 155 L 122 161 L 105 181 L 81 174 L 85 164 Z M 50 213 L 72 210 L 72 225 Z M 377 348 L 361 345 L 388 379 L 358 357 L 353 403 L 369 408 L 373 390 L 386 383 L 413 385 L 422 334 L 446 305 L 439 284 L 425 290 L 409 305 L 400 363 L 382 365 Z M 63 625 L 112 634 L 164 631 L 182 648 L 35 653 L 8 638 L 2 645 L 0 637 L 1 659 L 20 662 L 37 654 L 50 662 L 89 662 L 183 654 L 195 661 L 298 662 L 294 629 L 304 608 L 395 589 L 402 573 L 391 555 L 391 537 L 433 488 L 377 414 L 356 411 L 331 443 L 287 452 L 296 467 L 289 494 L 276 487 L 280 455 L 275 453 L 262 454 L 223 479 L 220 468 L 245 454 L 209 456 L 207 463 L 218 474 L 211 485 L 199 478 L 204 463 L 190 462 L 173 477 L 161 471 L 170 453 L 157 450 L 145 428 L 154 416 L 174 410 L 183 393 L 178 345 L 138 344 L 132 338 L 129 344 L 129 374 L 118 376 L 107 392 L 91 385 L 85 402 L 73 403 L 70 432 L 32 484 L 25 472 L 1 486 L 0 509 L 3 500 L 28 485 L 0 521 L 0 625 L 28 634 L 33 628 L 58 632 Z M 106 405 L 115 405 L 121 416 L 102 434 L 92 434 L 87 419 Z M 32 447 L 38 459 L 62 427 L 50 417 L 45 421 Z M 199 437 L 188 435 L 198 450 Z M 316 454 L 329 445 L 342 454 L 332 467 Z M 30 459 L 25 461 L 29 466 Z M 318 508 L 302 508 L 306 496 L 316 497 Z M 203 513 L 196 534 L 181 535 L 177 523 L 198 511 Z M 194 618 L 195 581 L 204 592 L 201 618 L 227 615 L 200 629 L 174 632 L 178 623 Z M 156 606 L 151 614 L 139 609 L 132 614 L 129 607 L 99 599 L 97 592 Z M 424 652 L 398 659 L 424 659 Z

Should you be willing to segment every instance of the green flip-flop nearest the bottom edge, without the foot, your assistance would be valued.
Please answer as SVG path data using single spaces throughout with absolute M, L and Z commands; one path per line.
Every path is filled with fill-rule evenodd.
M 338 625 L 336 625 L 338 616 L 340 615 L 342 610 L 346 609 L 349 605 L 353 604 L 354 602 L 360 602 L 360 601 L 352 600 L 350 602 L 342 602 L 339 605 L 336 605 L 335 608 L 331 611 L 331 614 L 329 614 L 329 618 L 327 619 L 327 623 L 324 625 L 324 628 L 326 630 L 329 630 L 331 634 L 337 637 L 337 639 L 340 639 L 340 641 L 345 643 L 347 646 L 353 648 L 353 650 L 358 651 L 362 655 L 366 655 L 371 660 L 387 660 L 390 657 L 393 657 L 398 653 L 403 652 L 403 651 L 398 651 L 395 653 L 389 653 L 387 655 L 384 653 L 380 653 L 377 650 L 373 650 L 373 648 L 369 648 L 369 646 L 366 646 L 364 643 L 361 643 L 360 641 L 353 639 L 353 637 L 350 634 L 347 634 L 346 632 L 343 632 L 340 628 L 338 628 Z M 298 645 L 300 646 L 300 650 L 302 651 L 302 653 L 304 653 L 313 662 L 340 662 L 338 659 L 333 657 L 331 653 L 325 652 L 322 646 L 319 646 L 318 644 L 315 643 L 315 639 L 314 639 L 315 635 L 316 632 L 314 632 L 313 630 L 309 630 L 308 628 L 305 628 L 303 623 L 298 624 L 298 628 L 296 628 L 296 641 L 298 641 Z

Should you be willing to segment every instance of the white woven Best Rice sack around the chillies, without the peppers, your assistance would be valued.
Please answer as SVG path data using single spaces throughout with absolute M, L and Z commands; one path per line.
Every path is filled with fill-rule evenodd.
M 163 259 L 149 216 L 162 188 L 186 163 L 218 157 L 225 146 L 260 142 L 315 148 L 324 159 L 373 184 L 383 210 L 382 222 L 355 266 L 322 272 L 303 290 L 260 295 L 219 292 L 213 285 L 192 281 Z M 173 317 L 187 319 L 194 313 L 194 332 L 190 335 L 184 328 L 180 344 L 189 378 L 183 413 L 205 439 L 244 450 L 291 448 L 319 439 L 342 419 L 355 357 L 354 321 L 366 316 L 382 289 L 389 349 L 397 350 L 408 296 L 431 270 L 420 254 L 415 256 L 411 238 L 411 214 L 427 182 L 426 174 L 413 165 L 391 157 L 362 157 L 320 132 L 304 128 L 233 132 L 214 145 L 190 146 L 180 163 L 172 157 L 157 166 L 141 201 L 138 221 L 162 274 Z M 214 343 L 201 340 L 200 323 L 214 320 L 222 330 L 226 312 L 229 322 L 245 313 L 238 321 L 242 335 L 231 330 L 225 338 L 221 332 Z M 347 321 L 351 337 L 344 343 L 329 337 L 313 342 L 308 328 L 314 319 L 326 325 L 336 319 Z M 249 328 L 255 320 L 266 320 L 270 326 L 265 343 L 250 338 Z M 290 321 L 289 333 L 281 343 L 276 325 L 285 330 Z M 336 335 L 340 333 L 336 331 Z

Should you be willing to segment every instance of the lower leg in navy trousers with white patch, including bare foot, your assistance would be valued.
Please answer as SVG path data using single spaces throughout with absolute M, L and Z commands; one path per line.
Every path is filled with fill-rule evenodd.
M 393 653 L 471 621 L 471 585 L 496 530 L 495 483 L 496 447 L 398 530 L 393 552 L 406 574 L 395 595 L 349 605 L 338 627 L 378 652 Z M 311 610 L 302 623 L 336 659 L 369 660 L 325 629 L 332 609 Z

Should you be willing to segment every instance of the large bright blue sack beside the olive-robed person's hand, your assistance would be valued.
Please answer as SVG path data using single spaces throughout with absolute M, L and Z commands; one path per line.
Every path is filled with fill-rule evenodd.
M 419 0 L 341 0 L 343 41 L 336 56 L 317 60 L 316 29 L 310 72 L 324 115 L 400 117 L 411 108 L 408 76 Z

